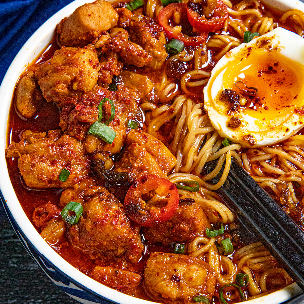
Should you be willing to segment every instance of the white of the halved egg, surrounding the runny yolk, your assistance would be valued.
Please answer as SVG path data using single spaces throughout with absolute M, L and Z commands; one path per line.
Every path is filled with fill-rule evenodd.
M 248 49 L 258 50 L 257 52 L 261 52 L 261 56 L 269 56 L 271 52 L 278 52 L 280 58 L 288 61 L 288 66 L 292 66 L 296 70 L 295 73 L 300 75 L 300 78 L 303 77 L 304 80 L 304 39 L 293 32 L 278 27 L 254 38 L 249 43 L 242 43 L 219 60 L 212 69 L 208 84 L 204 88 L 204 109 L 208 112 L 212 126 L 220 136 L 227 137 L 234 143 L 240 143 L 243 147 L 271 145 L 287 139 L 304 126 L 304 108 L 302 110 L 304 85 L 301 85 L 299 94 L 294 98 L 296 105 L 288 108 L 288 111 L 285 108 L 284 113 L 281 111 L 271 112 L 269 117 L 265 119 L 261 118 L 263 114 L 260 118 L 257 117 L 257 110 L 252 112 L 240 108 L 235 116 L 240 119 L 241 125 L 237 128 L 230 127 L 229 122 L 234 114 L 231 116 L 231 113 L 227 113 L 227 105 L 221 100 L 220 93 L 225 89 L 232 88 L 225 87 L 223 75 L 227 74 L 229 70 L 233 71 L 236 64 L 246 56 L 246 60 L 250 60 Z M 254 115 L 251 115 L 250 112 Z M 262 113 L 262 111 L 260 112 Z M 253 141 L 248 142 L 247 135 L 250 135 Z

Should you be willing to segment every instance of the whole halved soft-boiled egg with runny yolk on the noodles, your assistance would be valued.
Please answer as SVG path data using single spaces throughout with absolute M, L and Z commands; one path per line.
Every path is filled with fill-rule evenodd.
M 304 39 L 281 27 L 223 56 L 204 88 L 222 137 L 243 147 L 287 139 L 304 126 Z

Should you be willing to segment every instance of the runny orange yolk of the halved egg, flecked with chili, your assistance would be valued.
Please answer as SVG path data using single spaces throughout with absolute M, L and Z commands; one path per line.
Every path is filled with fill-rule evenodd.
M 223 85 L 247 99 L 244 114 L 259 120 L 271 120 L 304 105 L 304 66 L 278 51 L 249 49 L 237 63 L 227 67 Z M 238 82 L 240 81 L 240 82 Z M 255 96 L 246 96 L 241 88 L 256 88 Z M 256 92 L 256 91 L 255 91 Z

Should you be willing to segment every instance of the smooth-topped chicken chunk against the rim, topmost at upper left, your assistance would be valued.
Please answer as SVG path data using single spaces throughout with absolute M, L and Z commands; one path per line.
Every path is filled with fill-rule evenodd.
M 97 0 L 78 7 L 57 27 L 59 42 L 66 47 L 84 47 L 103 32 L 115 26 L 118 14 L 105 0 Z

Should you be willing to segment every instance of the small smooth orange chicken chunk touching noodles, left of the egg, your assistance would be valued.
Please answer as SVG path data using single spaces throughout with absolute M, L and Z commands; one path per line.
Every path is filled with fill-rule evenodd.
M 122 71 L 120 74 L 120 84 L 128 89 L 129 94 L 137 100 L 145 100 L 149 93 L 153 90 L 154 84 L 147 76 L 133 73 L 130 71 Z M 147 98 L 150 100 L 150 98 Z

